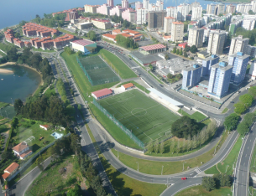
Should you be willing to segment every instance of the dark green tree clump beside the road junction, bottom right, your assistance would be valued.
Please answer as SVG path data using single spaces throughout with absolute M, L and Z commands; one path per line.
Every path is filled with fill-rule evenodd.
M 201 185 L 203 188 L 206 188 L 206 191 L 212 191 L 221 187 L 230 187 L 231 180 L 231 176 L 226 173 L 217 173 L 213 177 L 203 177 Z

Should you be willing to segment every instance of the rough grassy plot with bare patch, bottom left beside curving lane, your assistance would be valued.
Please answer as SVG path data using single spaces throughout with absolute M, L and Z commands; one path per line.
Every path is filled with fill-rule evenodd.
M 77 182 L 76 160 L 76 158 L 68 156 L 59 162 L 52 162 L 30 185 L 26 195 L 44 195 L 49 190 L 51 190 L 51 194 L 67 191 L 71 185 Z M 65 173 L 61 174 L 60 168 L 65 168 Z

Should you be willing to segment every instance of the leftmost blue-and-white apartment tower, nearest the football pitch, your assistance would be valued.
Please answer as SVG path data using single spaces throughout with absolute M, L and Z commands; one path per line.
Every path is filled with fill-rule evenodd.
M 201 66 L 193 64 L 182 70 L 182 89 L 188 90 L 197 85 L 201 80 Z

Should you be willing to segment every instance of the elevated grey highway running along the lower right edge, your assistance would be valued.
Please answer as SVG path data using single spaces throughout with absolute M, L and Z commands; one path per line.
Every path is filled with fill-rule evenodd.
M 233 196 L 248 195 L 249 170 L 256 139 L 256 126 L 253 124 L 251 131 L 244 137 L 243 146 L 238 156 L 238 164 L 234 176 Z

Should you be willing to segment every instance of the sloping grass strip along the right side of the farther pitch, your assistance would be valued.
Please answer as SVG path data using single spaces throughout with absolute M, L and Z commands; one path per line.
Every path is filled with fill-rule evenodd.
M 112 69 L 115 70 L 116 73 L 119 73 L 121 78 L 128 79 L 137 77 L 133 70 L 131 70 L 128 65 L 124 64 L 115 54 L 108 52 L 106 49 L 101 49 L 99 54 L 107 61 L 107 64 L 112 66 Z

